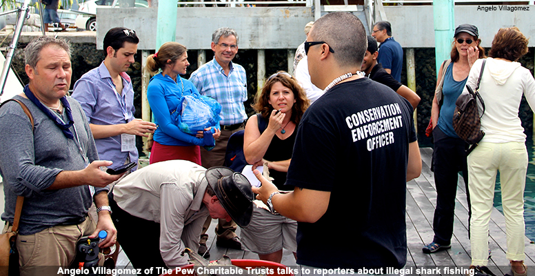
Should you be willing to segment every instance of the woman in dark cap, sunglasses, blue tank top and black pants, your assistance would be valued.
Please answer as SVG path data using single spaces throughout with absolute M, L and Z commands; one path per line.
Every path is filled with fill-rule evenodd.
M 485 50 L 481 47 L 481 39 L 478 36 L 476 26 L 459 25 L 455 29 L 451 59 L 444 61 L 436 74 L 438 81 L 431 110 L 436 208 L 433 217 L 433 241 L 422 248 L 423 253 L 427 254 L 452 247 L 458 172 L 463 172 L 465 186 L 468 187 L 468 144 L 457 136 L 452 121 L 455 101 L 463 92 L 470 68 L 477 59 L 485 57 Z M 466 190 L 470 208 L 468 188 Z

